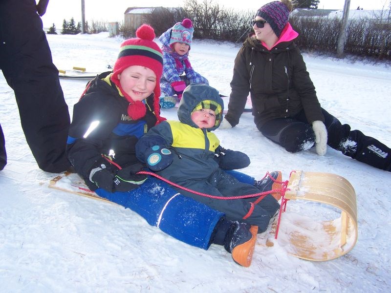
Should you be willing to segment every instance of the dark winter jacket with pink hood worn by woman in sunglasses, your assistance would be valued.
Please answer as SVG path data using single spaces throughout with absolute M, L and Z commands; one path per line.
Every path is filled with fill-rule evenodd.
M 271 119 L 294 117 L 303 109 L 309 123 L 324 121 L 303 56 L 293 43 L 296 37 L 288 23 L 280 37 L 280 41 L 286 41 L 278 42 L 271 50 L 254 34 L 243 43 L 235 59 L 225 115 L 232 126 L 239 123 L 249 92 L 258 128 Z

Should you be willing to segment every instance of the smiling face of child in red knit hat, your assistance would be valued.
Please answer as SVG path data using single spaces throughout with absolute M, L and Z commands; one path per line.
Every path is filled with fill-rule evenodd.
M 156 75 L 152 69 L 133 65 L 118 74 L 122 89 L 135 101 L 148 98 L 156 86 Z

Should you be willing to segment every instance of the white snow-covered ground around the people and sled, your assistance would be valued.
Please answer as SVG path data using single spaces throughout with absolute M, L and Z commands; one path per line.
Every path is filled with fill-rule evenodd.
M 105 71 L 122 40 L 99 35 L 48 35 L 59 69 Z M 229 94 L 240 44 L 195 40 L 190 61 L 220 93 Z M 391 145 L 391 69 L 304 54 L 321 105 L 343 123 Z M 72 113 L 86 81 L 61 80 Z M 358 240 L 348 254 L 327 262 L 305 261 L 276 242 L 260 241 L 249 268 L 238 266 L 222 247 L 208 251 L 164 234 L 129 209 L 48 188 L 25 142 L 11 88 L 0 75 L 1 126 L 8 165 L 0 171 L 1 292 L 390 292 L 391 174 L 328 148 L 290 154 L 265 139 L 249 113 L 237 127 L 217 130 L 221 145 L 247 153 L 243 171 L 331 172 L 345 177 L 357 194 Z M 176 119 L 175 109 L 163 116 Z M 320 205 L 288 203 L 308 215 Z M 259 235 L 259 239 L 261 235 Z

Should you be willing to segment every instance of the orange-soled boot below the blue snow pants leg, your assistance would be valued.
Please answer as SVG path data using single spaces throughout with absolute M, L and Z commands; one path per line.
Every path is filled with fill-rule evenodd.
M 232 259 L 243 267 L 249 267 L 253 258 L 258 226 L 237 223 L 231 241 L 225 249 L 232 253 Z

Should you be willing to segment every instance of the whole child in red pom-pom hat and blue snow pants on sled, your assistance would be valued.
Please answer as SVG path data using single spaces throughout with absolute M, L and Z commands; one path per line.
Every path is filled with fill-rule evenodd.
M 136 36 L 121 44 L 113 72 L 92 80 L 74 105 L 67 157 L 99 196 L 190 245 L 223 245 L 237 263 L 249 266 L 256 235 L 250 225 L 228 221 L 164 182 L 137 174 L 145 166 L 135 156 L 136 142 L 165 119 L 158 100 L 162 52 L 152 41 L 152 27 L 142 25 Z

